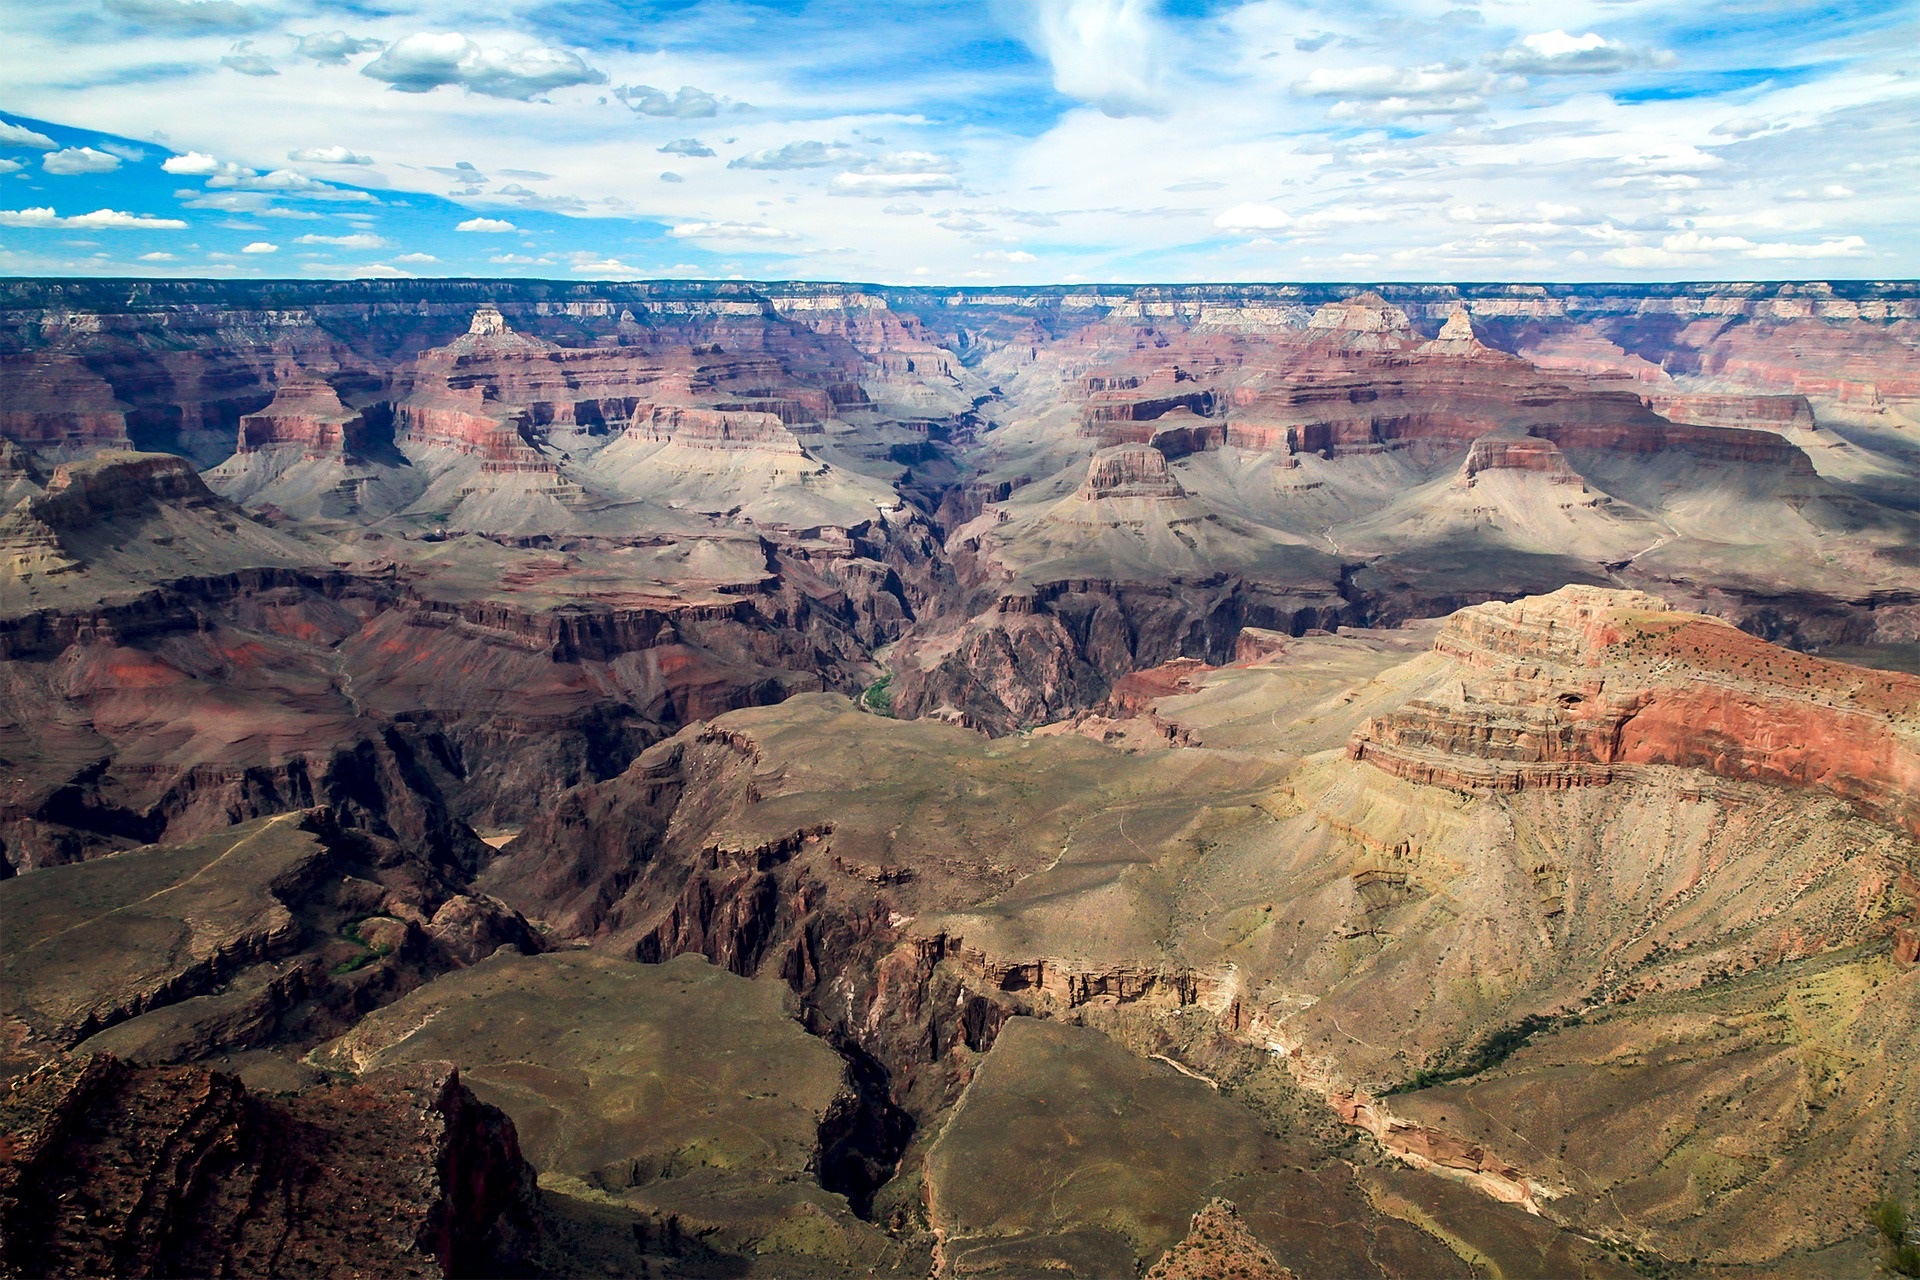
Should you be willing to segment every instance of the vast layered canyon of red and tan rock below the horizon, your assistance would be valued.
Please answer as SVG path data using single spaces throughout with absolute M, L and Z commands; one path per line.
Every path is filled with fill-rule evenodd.
M 1910 282 L 0 280 L 0 1274 L 1912 1192 Z

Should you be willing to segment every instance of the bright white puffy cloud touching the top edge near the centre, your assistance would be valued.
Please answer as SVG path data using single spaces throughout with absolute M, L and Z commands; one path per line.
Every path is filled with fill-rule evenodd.
M 1165 115 L 1158 67 L 1173 42 L 1152 0 L 1029 0 L 1006 13 L 1054 69 L 1054 88 L 1106 115 Z

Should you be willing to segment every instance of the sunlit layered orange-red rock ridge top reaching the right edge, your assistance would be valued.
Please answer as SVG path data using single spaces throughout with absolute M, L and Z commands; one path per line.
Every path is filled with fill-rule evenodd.
M 1634 766 L 1818 787 L 1920 833 L 1920 677 L 1778 649 L 1630 591 L 1461 610 L 1440 683 L 1348 754 L 1469 791 L 1603 785 Z

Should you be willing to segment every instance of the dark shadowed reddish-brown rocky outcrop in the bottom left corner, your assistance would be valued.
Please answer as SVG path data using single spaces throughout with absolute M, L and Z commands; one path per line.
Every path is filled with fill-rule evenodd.
M 0 1274 L 478 1276 L 534 1171 L 449 1063 L 267 1098 L 111 1055 L 0 1096 Z

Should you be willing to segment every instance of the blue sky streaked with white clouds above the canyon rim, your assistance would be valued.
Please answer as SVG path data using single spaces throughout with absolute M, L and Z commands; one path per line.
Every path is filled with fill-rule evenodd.
M 1920 4 L 0 0 L 0 274 L 1920 276 Z

